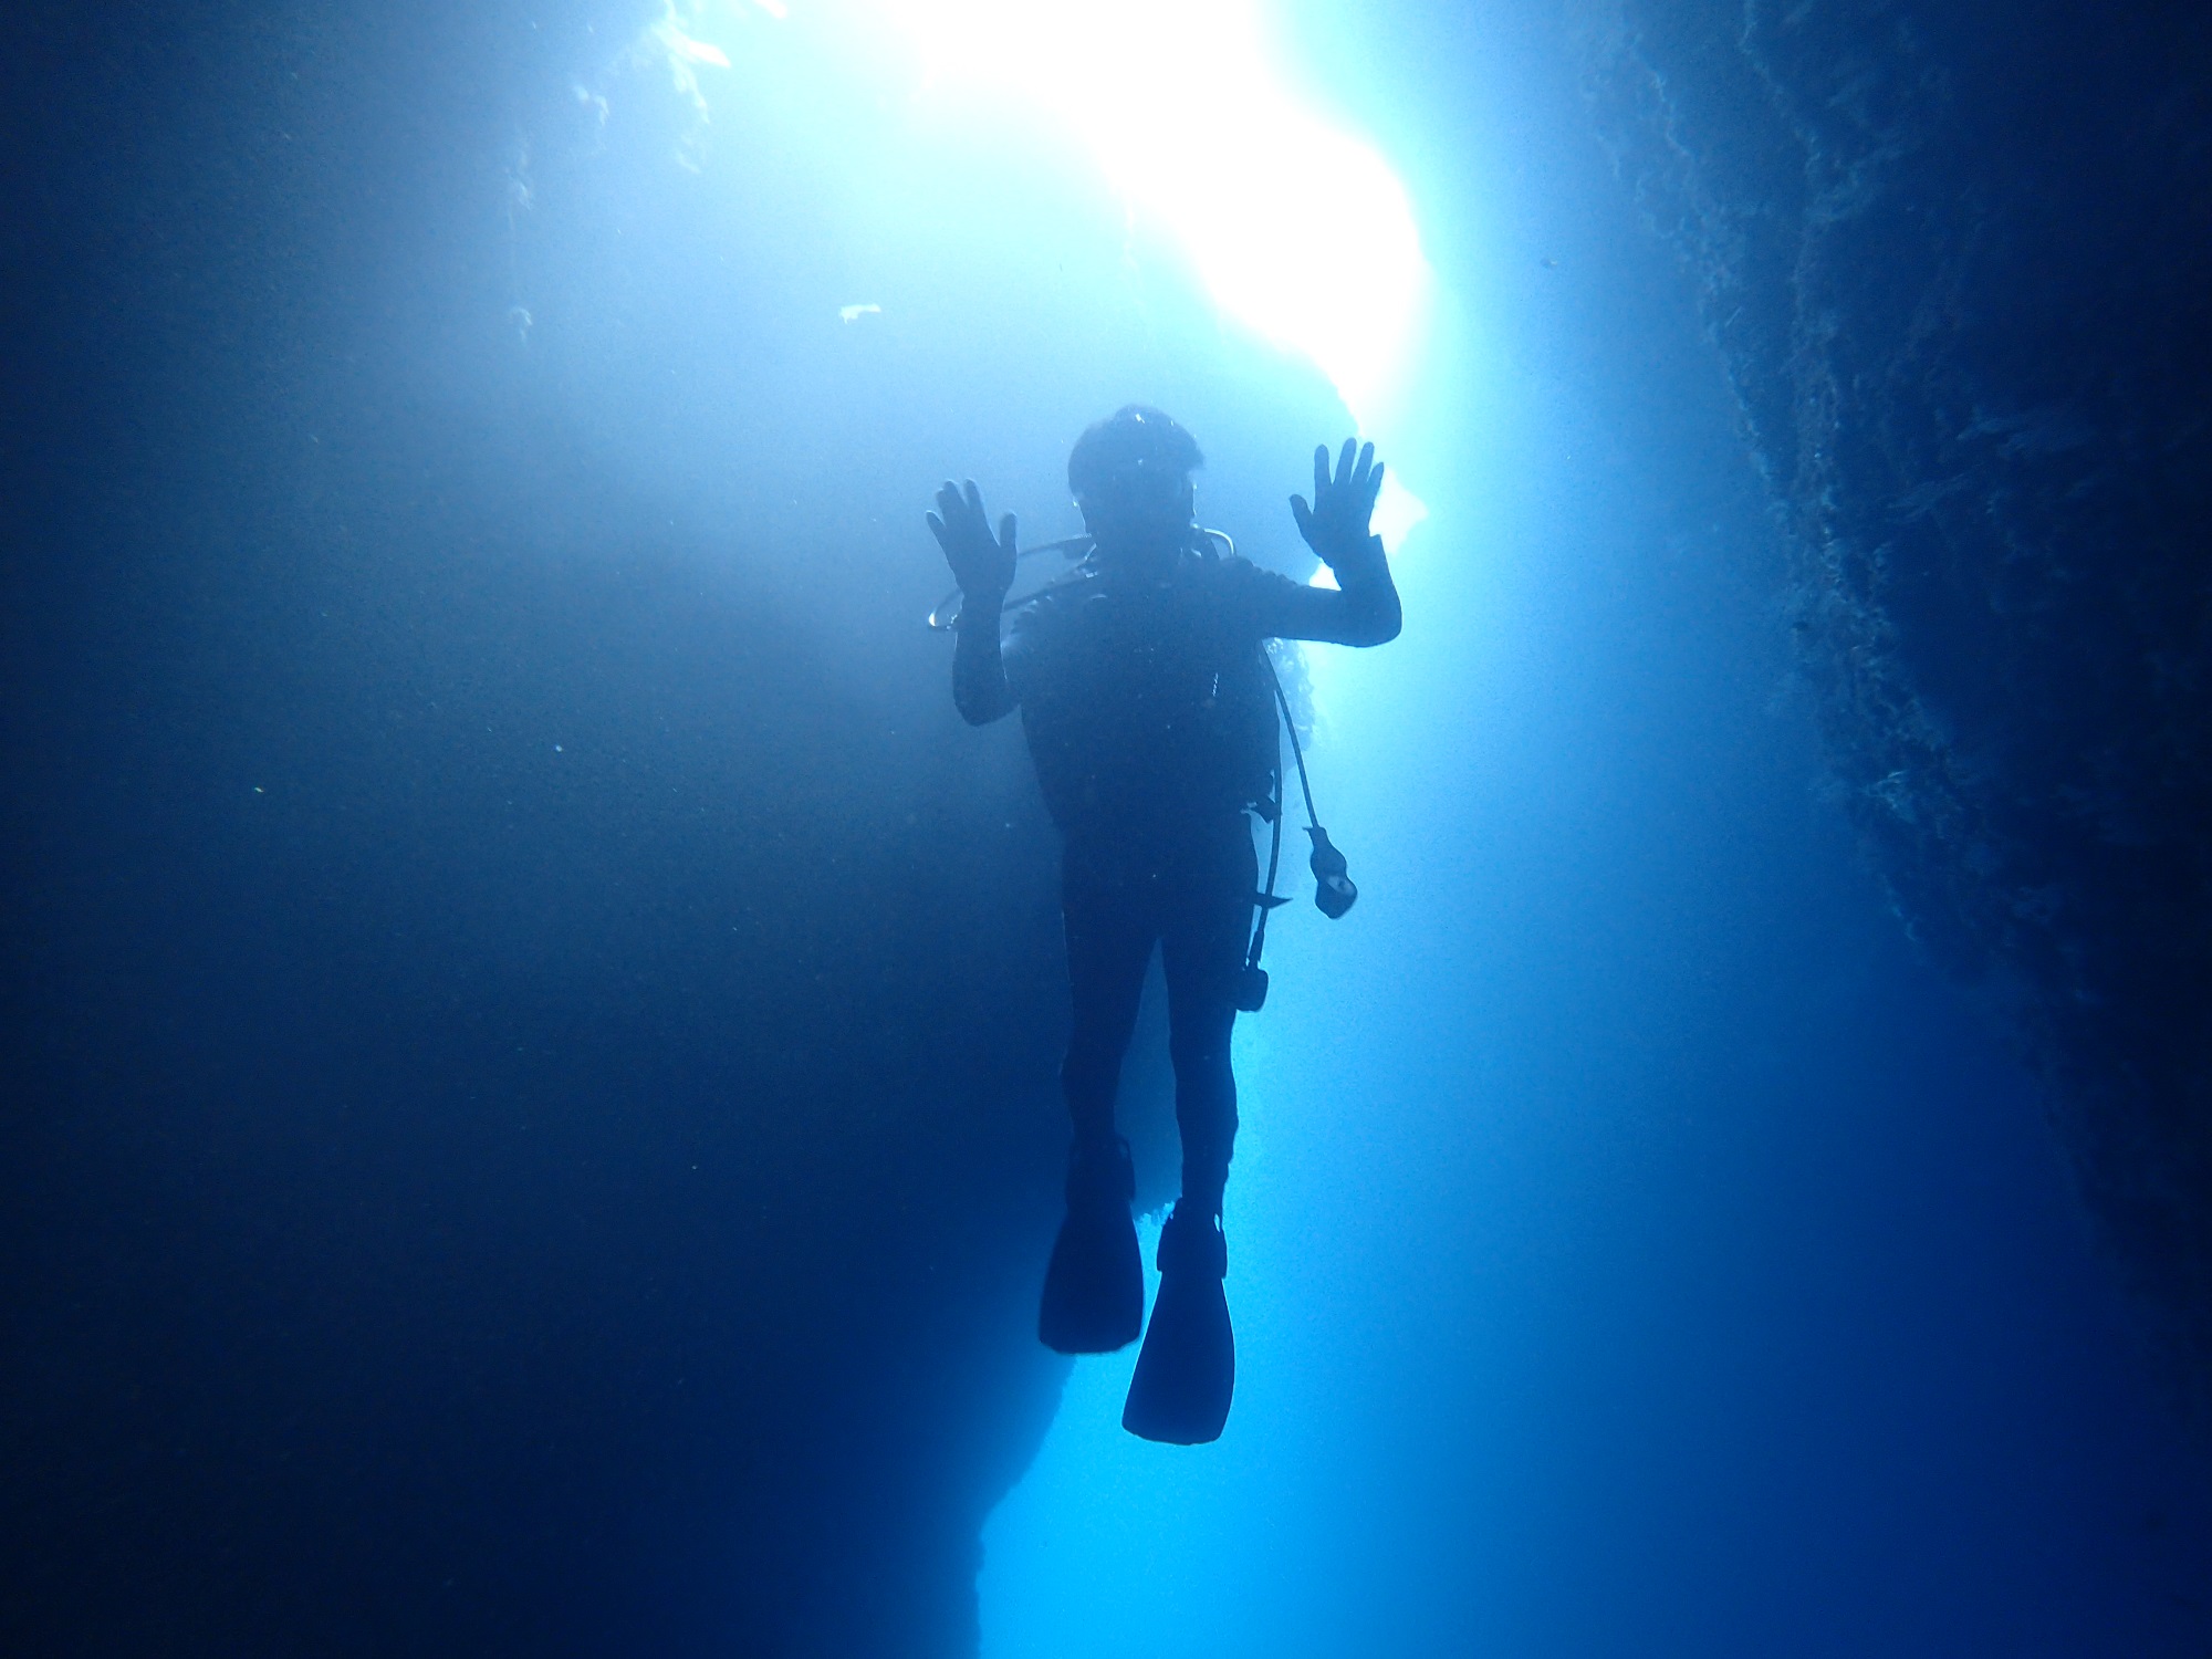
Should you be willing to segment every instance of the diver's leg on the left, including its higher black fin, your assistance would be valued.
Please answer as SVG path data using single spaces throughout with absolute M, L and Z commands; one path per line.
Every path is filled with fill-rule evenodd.
M 1060 1354 L 1110 1354 L 1144 1327 L 1144 1263 L 1128 1141 L 1113 1130 L 1121 1055 L 1137 1026 L 1152 931 L 1124 872 L 1071 843 L 1062 863 L 1075 1020 L 1060 1086 L 1075 1124 L 1068 1212 L 1037 1301 L 1037 1338 Z

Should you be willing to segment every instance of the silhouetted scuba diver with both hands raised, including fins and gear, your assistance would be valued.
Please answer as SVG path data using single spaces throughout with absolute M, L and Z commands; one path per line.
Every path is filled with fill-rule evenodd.
M 1159 1234 L 1159 1296 L 1121 1425 L 1175 1444 L 1221 1436 L 1237 1371 L 1221 1234 L 1237 1137 L 1230 1029 L 1239 1006 L 1265 995 L 1256 940 L 1281 902 L 1272 863 L 1270 891 L 1259 891 L 1248 818 L 1272 821 L 1281 849 L 1281 690 L 1265 641 L 1380 646 L 1400 626 L 1383 538 L 1369 533 L 1383 487 L 1374 445 L 1347 440 L 1334 473 L 1316 449 L 1314 500 L 1290 502 L 1336 591 L 1219 553 L 1219 533 L 1194 524 L 1201 465 L 1192 436 L 1159 409 L 1130 405 L 1084 431 L 1068 489 L 1088 551 L 1073 575 L 1013 606 L 1013 513 L 993 535 L 971 480 L 947 482 L 927 515 L 960 582 L 953 701 L 971 726 L 1022 710 L 1064 838 L 1075 1026 L 1060 1086 L 1075 1144 L 1037 1310 L 1040 1338 L 1062 1354 L 1110 1354 L 1144 1327 L 1135 1172 L 1115 1133 L 1115 1086 L 1152 949 L 1164 958 L 1183 1188 Z M 1310 834 L 1316 902 L 1338 916 L 1354 889 L 1327 832 Z

